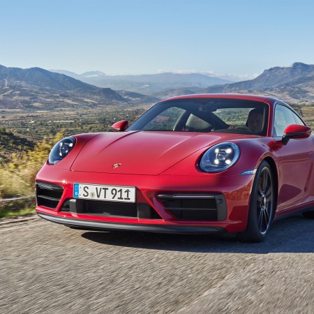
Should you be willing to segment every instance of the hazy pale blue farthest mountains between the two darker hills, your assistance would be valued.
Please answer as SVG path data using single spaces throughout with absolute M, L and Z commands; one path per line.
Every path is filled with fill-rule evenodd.
M 204 88 L 216 84 L 227 84 L 231 81 L 200 73 L 160 73 L 147 75 L 106 75 L 100 71 L 91 71 L 78 75 L 64 70 L 53 70 L 75 77 L 82 82 L 97 87 L 107 87 L 115 90 L 133 91 L 140 94 L 157 94 L 165 89 Z

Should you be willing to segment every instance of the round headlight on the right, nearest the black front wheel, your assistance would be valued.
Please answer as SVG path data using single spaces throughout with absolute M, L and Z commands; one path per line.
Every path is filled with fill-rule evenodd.
M 232 142 L 223 142 L 211 147 L 202 156 L 200 168 L 205 172 L 220 172 L 234 165 L 240 156 L 239 147 Z

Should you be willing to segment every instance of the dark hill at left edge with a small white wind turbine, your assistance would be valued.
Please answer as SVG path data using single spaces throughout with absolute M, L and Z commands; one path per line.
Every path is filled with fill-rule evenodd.
M 87 76 L 96 75 L 87 73 Z M 43 68 L 6 68 L 0 65 L 0 108 L 33 109 L 75 105 L 137 105 L 158 99 L 138 94 L 122 96 L 110 88 L 100 88 Z

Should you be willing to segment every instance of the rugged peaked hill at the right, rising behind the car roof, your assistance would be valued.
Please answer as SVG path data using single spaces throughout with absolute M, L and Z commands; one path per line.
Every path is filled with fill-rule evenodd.
M 269 68 L 254 80 L 202 89 L 203 93 L 250 93 L 282 98 L 285 101 L 314 103 L 314 65 L 301 62 Z

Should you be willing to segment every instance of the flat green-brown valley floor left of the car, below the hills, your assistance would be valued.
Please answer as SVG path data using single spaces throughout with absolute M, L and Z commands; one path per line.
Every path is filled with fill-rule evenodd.
M 45 135 L 65 130 L 66 135 L 111 130 L 122 119 L 134 121 L 149 106 L 96 108 L 54 108 L 51 110 L 0 110 L 0 128 L 38 140 Z

